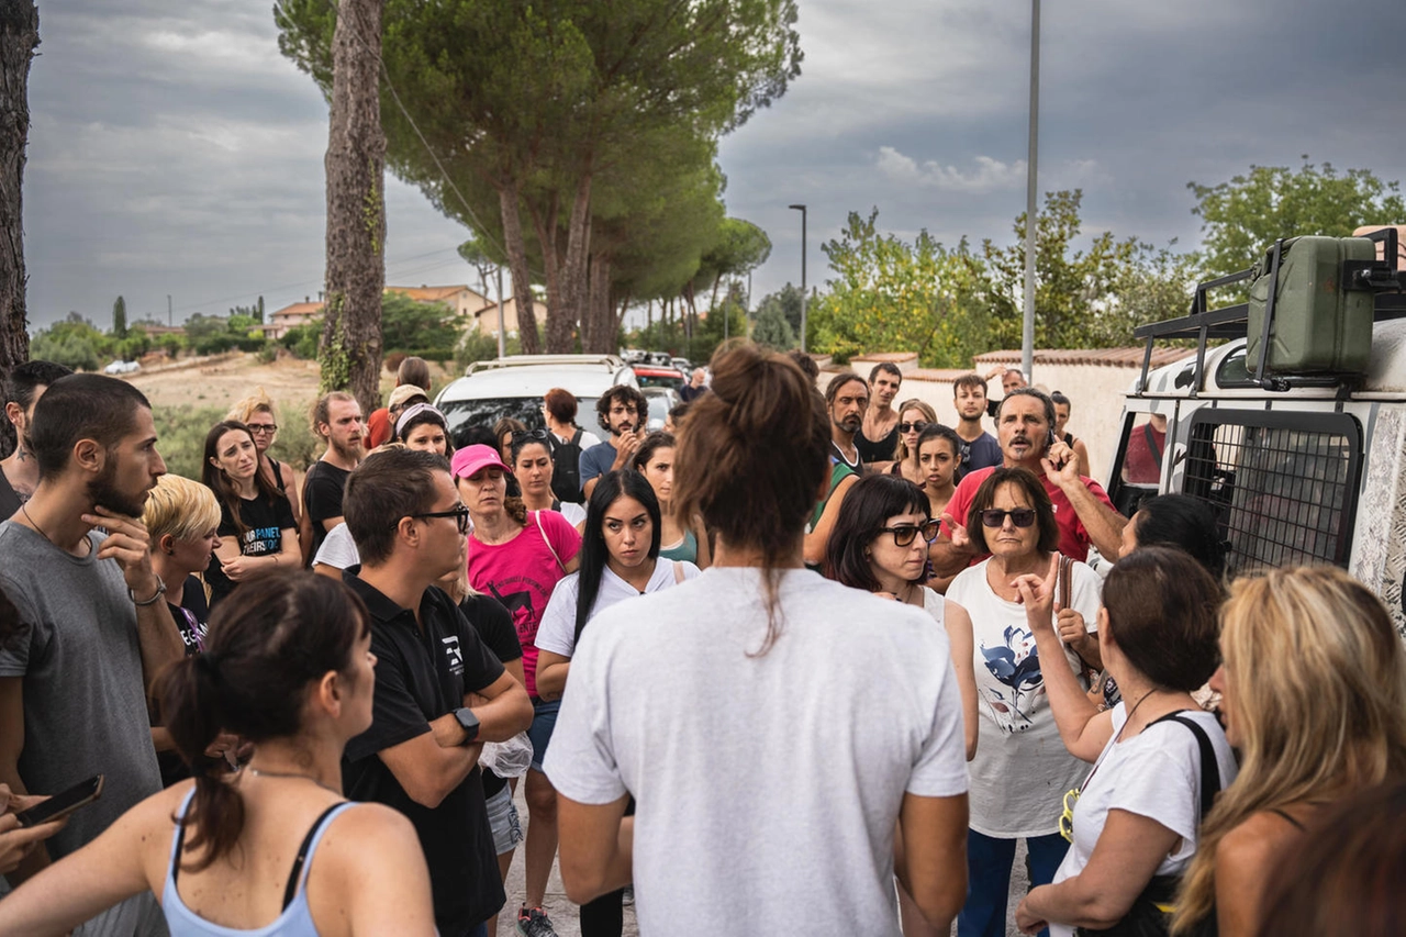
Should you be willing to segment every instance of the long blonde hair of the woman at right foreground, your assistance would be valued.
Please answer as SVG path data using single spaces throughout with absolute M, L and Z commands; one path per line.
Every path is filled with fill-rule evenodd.
M 1272 570 L 1236 581 L 1220 622 L 1240 774 L 1201 827 L 1175 933 L 1212 913 L 1216 846 L 1251 815 L 1406 771 L 1406 653 L 1367 587 L 1334 567 Z

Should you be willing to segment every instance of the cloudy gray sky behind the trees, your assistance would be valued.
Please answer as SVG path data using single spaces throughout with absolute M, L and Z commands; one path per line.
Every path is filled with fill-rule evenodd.
M 271 0 L 38 0 L 25 256 L 31 328 L 269 310 L 323 272 L 326 104 L 278 55 Z M 952 243 L 1025 205 L 1029 0 L 800 0 L 801 76 L 727 138 L 727 205 L 770 235 L 758 298 L 810 281 L 849 211 Z M 1042 4 L 1040 189 L 1085 231 L 1195 245 L 1189 180 L 1250 165 L 1406 180 L 1402 0 Z M 387 186 L 387 280 L 468 283 L 468 236 Z M 1384 219 L 1406 221 L 1406 219 Z

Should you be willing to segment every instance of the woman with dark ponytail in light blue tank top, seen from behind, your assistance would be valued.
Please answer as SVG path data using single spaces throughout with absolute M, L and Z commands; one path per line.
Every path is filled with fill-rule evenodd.
M 148 889 L 173 934 L 434 933 L 409 820 L 340 793 L 342 750 L 371 725 L 366 608 L 292 570 L 242 595 L 215 611 L 205 653 L 159 684 L 194 781 L 146 798 L 15 889 L 0 902 L 0 933 L 66 934 Z M 221 729 L 257 743 L 239 774 L 205 754 Z

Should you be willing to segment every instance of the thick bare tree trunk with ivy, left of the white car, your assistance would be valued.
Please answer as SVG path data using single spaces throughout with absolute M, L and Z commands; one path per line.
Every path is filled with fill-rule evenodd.
M 381 132 L 382 0 L 340 0 L 332 37 L 328 134 L 328 300 L 322 390 L 380 407 L 385 288 L 385 134 Z

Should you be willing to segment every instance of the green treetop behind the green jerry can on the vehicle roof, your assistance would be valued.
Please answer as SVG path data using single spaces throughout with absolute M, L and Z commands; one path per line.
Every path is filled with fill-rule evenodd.
M 1253 266 L 1279 238 L 1346 238 L 1362 225 L 1406 221 L 1399 183 L 1382 181 L 1365 169 L 1339 174 L 1330 163 L 1317 166 L 1308 156 L 1296 172 L 1250 166 L 1230 181 L 1187 187 L 1197 196 L 1191 212 L 1204 221 L 1206 279 Z

